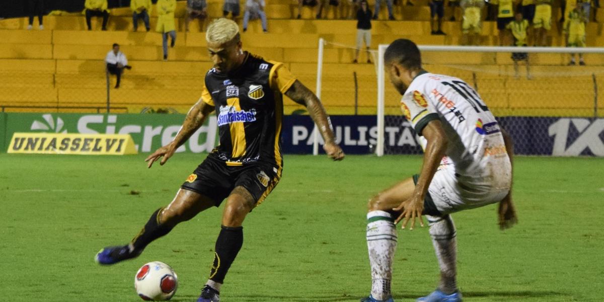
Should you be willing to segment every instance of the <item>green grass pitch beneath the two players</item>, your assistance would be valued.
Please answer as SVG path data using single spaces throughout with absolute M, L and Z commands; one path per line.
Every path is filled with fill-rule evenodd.
M 178 273 L 172 300 L 195 301 L 208 277 L 222 208 L 177 226 L 138 259 L 101 267 L 93 258 L 103 246 L 135 236 L 204 156 L 177 154 L 149 170 L 144 155 L 0 154 L 0 301 L 141 301 L 134 275 L 154 260 Z M 367 295 L 367 201 L 417 173 L 421 161 L 286 155 L 280 184 L 244 223 L 245 242 L 222 300 L 358 301 Z M 602 158 L 518 157 L 518 225 L 498 230 L 495 205 L 454 214 L 464 300 L 602 301 L 603 167 Z M 428 294 L 438 277 L 427 228 L 399 230 L 395 300 Z

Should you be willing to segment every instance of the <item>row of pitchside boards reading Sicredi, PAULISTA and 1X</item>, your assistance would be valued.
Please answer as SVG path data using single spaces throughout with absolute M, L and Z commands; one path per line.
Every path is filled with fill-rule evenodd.
M 172 141 L 183 114 L 33 114 L 0 113 L 0 147 L 6 152 L 14 132 L 127 133 L 138 152 L 152 152 Z M 411 124 L 399 116 L 385 118 L 385 149 L 390 154 L 421 152 Z M 333 115 L 338 143 L 349 154 L 373 153 L 376 117 Z M 522 155 L 604 156 L 604 118 L 500 117 Z M 313 123 L 308 115 L 287 115 L 281 146 L 285 153 L 312 153 Z M 218 141 L 216 117 L 211 117 L 178 152 L 210 152 Z

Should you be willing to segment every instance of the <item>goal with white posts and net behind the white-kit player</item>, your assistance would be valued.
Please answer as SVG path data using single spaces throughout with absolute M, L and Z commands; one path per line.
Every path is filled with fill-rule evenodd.
M 370 54 L 360 50 L 359 63 L 350 64 L 355 48 L 324 44 L 317 90 L 341 146 L 378 156 L 422 153 L 384 70 L 388 45 Z M 419 48 L 426 71 L 458 77 L 477 91 L 514 138 L 516 153 L 604 156 L 604 48 Z M 578 51 L 583 60 L 577 54 L 569 65 Z M 526 55 L 514 60 L 513 53 Z

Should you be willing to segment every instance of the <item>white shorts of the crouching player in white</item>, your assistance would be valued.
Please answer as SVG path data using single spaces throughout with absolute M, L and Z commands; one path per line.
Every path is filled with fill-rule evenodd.
M 512 185 L 512 165 L 509 159 L 498 160 L 488 170 L 493 173 L 480 177 L 465 176 L 455 171 L 455 165 L 450 160 L 448 164 L 440 165 L 428 187 L 430 197 L 426 196 L 426 199 L 431 201 L 426 200 L 425 213 L 446 215 L 500 202 Z M 417 179 L 416 176 L 414 179 Z

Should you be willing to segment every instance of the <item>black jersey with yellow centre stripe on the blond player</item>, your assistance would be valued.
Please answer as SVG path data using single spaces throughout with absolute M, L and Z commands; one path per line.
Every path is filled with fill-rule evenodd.
M 280 169 L 283 93 L 295 80 L 283 63 L 247 52 L 230 74 L 210 69 L 202 101 L 216 108 L 220 136 L 210 156 L 227 165 L 266 162 Z

